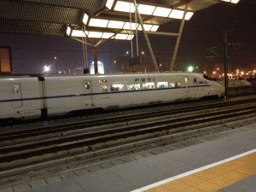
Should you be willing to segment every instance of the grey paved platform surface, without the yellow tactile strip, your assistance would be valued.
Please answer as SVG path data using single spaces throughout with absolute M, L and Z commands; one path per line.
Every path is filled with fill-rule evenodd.
M 129 154 L 95 166 L 16 183 L 4 189 L 0 186 L 0 192 L 140 192 L 144 186 L 255 148 L 256 125 L 247 125 L 210 137 Z M 256 191 L 256 175 L 227 183 L 218 191 Z

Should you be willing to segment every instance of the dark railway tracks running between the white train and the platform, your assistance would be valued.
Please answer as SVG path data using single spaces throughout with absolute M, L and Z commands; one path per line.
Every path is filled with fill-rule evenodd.
M 0 183 L 74 161 L 176 143 L 256 120 L 256 99 L 163 109 L 0 133 Z

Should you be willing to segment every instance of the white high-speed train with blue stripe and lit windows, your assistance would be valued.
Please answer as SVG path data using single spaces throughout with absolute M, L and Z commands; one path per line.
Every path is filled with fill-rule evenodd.
M 129 108 L 223 96 L 200 73 L 132 73 L 0 78 L 0 119 L 49 117 L 84 109 Z

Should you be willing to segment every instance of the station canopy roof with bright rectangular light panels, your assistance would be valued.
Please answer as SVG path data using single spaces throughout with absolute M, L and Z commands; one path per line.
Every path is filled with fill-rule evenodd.
M 1 0 L 0 33 L 129 40 L 134 31 L 157 32 L 172 20 L 189 20 L 216 3 L 239 0 Z M 143 20 L 135 16 L 134 3 Z

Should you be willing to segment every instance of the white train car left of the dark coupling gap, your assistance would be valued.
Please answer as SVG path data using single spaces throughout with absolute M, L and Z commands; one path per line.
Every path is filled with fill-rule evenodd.
M 38 78 L 0 79 L 0 119 L 40 117 L 41 93 Z

